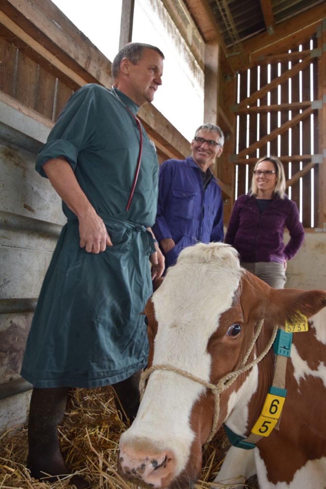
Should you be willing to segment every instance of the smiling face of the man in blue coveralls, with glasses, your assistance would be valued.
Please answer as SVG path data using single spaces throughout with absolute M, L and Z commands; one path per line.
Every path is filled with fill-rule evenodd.
M 213 131 L 198 131 L 196 137 L 208 141 L 215 141 L 216 143 L 219 143 L 220 139 L 219 134 Z M 191 150 L 194 161 L 206 172 L 207 168 L 215 161 L 215 158 L 222 154 L 223 146 L 196 141 L 194 138 L 191 143 Z

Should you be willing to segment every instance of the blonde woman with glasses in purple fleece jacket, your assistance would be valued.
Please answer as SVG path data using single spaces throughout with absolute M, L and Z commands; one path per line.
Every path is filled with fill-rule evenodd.
M 283 243 L 284 226 L 290 241 Z M 251 189 L 236 200 L 225 236 L 240 255 L 241 266 L 275 289 L 283 289 L 286 261 L 304 241 L 298 207 L 285 195 L 285 175 L 276 156 L 264 156 L 254 168 Z

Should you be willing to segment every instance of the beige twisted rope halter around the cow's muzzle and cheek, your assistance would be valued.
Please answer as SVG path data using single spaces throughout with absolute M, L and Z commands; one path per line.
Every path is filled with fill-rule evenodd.
M 224 377 L 222 377 L 218 381 L 217 384 L 212 384 L 211 382 L 207 382 L 206 380 L 203 380 L 199 377 L 196 377 L 196 376 L 186 372 L 185 370 L 179 369 L 177 367 L 173 367 L 172 365 L 152 365 L 152 367 L 149 367 L 147 370 L 145 370 L 140 377 L 139 390 L 140 390 L 141 399 L 142 399 L 143 394 L 144 394 L 146 380 L 147 380 L 147 378 L 149 378 L 149 376 L 152 374 L 152 372 L 154 372 L 154 370 L 167 370 L 169 372 L 174 372 L 175 374 L 180 374 L 183 377 L 189 378 L 190 380 L 194 380 L 195 382 L 203 385 L 207 389 L 211 389 L 213 396 L 214 396 L 215 409 L 214 409 L 214 419 L 213 419 L 212 430 L 211 430 L 211 433 L 210 433 L 210 435 L 206 441 L 206 443 L 209 443 L 217 431 L 217 423 L 218 423 L 218 418 L 219 418 L 219 395 L 222 392 L 224 392 L 226 389 L 231 387 L 231 385 L 239 377 L 239 375 L 243 374 L 244 372 L 247 372 L 252 367 L 257 365 L 264 358 L 264 356 L 267 355 L 267 353 L 269 352 L 269 350 L 271 349 L 271 347 L 274 343 L 276 333 L 278 330 L 277 326 L 274 327 L 272 336 L 271 336 L 266 348 L 263 350 L 263 352 L 255 360 L 253 360 L 252 362 L 245 365 L 247 359 L 249 358 L 249 356 L 250 356 L 250 354 L 254 348 L 254 345 L 257 341 L 257 338 L 261 333 L 263 322 L 264 322 L 263 319 L 261 319 L 261 321 L 259 321 L 257 331 L 256 331 L 256 333 L 255 333 L 255 335 L 254 335 L 254 337 L 253 337 L 253 339 L 249 345 L 249 348 L 247 350 L 246 355 L 243 358 L 243 361 L 240 365 L 240 368 L 238 370 L 236 370 L 235 372 L 230 372 L 229 374 L 226 374 Z

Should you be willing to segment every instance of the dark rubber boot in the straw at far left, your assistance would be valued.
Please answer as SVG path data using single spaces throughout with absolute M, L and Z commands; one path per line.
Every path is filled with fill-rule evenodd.
M 68 387 L 33 389 L 28 420 L 28 456 L 26 467 L 35 479 L 57 482 L 71 471 L 66 467 L 59 447 L 58 424 L 65 414 Z M 53 475 L 49 478 L 46 474 Z M 86 489 L 89 484 L 74 475 L 70 484 Z

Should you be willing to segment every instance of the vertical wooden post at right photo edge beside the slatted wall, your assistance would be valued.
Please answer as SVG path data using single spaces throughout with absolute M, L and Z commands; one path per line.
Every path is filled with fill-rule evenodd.
M 324 27 L 324 29 L 323 29 Z M 322 47 L 326 43 L 325 22 L 321 24 L 322 35 L 318 39 L 318 47 Z M 319 152 L 324 154 L 324 163 L 318 165 L 318 225 L 319 228 L 326 230 L 326 51 L 323 50 L 322 56 L 318 60 L 318 97 L 324 101 L 322 109 L 318 111 L 319 125 Z M 316 225 L 315 224 L 315 225 Z

